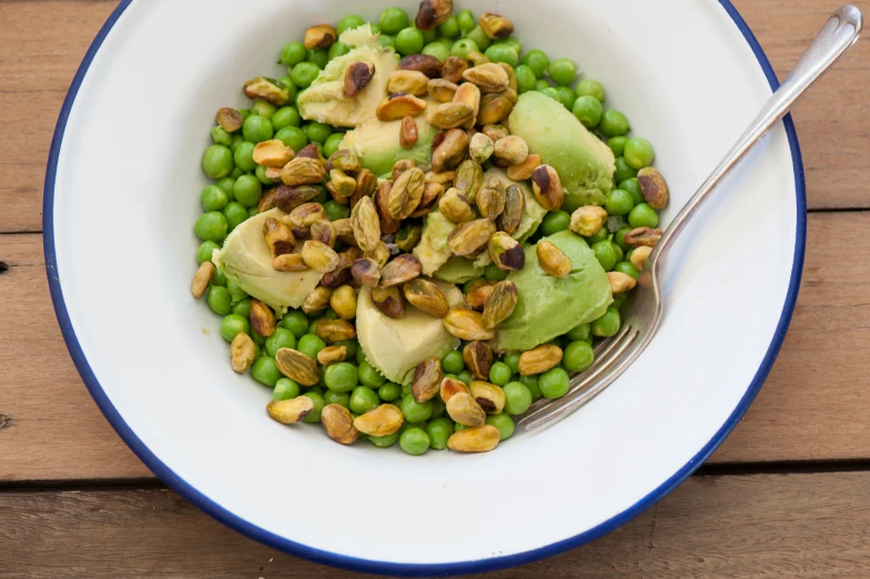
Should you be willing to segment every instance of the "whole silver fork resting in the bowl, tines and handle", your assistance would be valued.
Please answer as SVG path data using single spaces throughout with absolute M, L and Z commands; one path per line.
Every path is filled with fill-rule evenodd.
M 537 400 L 517 418 L 517 427 L 532 431 L 562 420 L 607 388 L 646 349 L 661 322 L 661 271 L 674 241 L 735 165 L 854 44 L 862 26 L 861 12 L 856 7 L 843 6 L 837 9 L 795 65 L 788 79 L 782 82 L 737 144 L 725 155 L 721 163 L 662 234 L 637 280 L 637 287 L 621 308 L 625 317 L 620 331 L 598 345 L 595 351 L 595 363 L 587 370 L 571 378 L 567 395 L 555 400 Z

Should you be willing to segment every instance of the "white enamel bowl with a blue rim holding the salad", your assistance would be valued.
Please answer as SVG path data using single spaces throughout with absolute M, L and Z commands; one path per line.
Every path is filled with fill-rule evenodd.
M 230 527 L 331 565 L 397 575 L 503 568 L 581 545 L 692 473 L 746 412 L 795 307 L 805 191 L 790 121 L 684 234 L 666 315 L 638 362 L 557 426 L 480 456 L 351 448 L 270 420 L 220 318 L 190 295 L 200 158 L 214 112 L 281 75 L 306 26 L 388 3 L 124 0 L 63 108 L 45 253 L 70 352 L 110 423 L 168 485 Z M 416 7 L 402 2 L 408 12 Z M 492 0 L 466 0 L 475 13 Z M 664 223 L 770 95 L 727 0 L 499 0 L 526 49 L 570 57 L 648 138 Z

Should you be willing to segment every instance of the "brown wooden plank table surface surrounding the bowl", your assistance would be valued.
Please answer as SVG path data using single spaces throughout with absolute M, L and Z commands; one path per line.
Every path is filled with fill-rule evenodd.
M 836 7 L 735 3 L 780 78 Z M 356 577 L 255 544 L 168 490 L 67 353 L 45 282 L 42 182 L 69 83 L 115 6 L 0 0 L 0 577 Z M 624 528 L 490 577 L 870 577 L 869 57 L 864 40 L 795 111 L 810 206 L 803 284 L 742 423 Z

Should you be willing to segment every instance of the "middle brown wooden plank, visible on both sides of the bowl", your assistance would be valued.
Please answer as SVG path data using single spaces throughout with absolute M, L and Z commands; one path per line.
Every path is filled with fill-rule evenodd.
M 777 364 L 717 463 L 870 458 L 870 264 L 846 248 L 870 213 L 812 214 L 805 283 Z M 0 480 L 150 476 L 81 383 L 50 305 L 38 235 L 0 236 Z M 47 404 L 62 393 L 63 404 Z M 74 435 L 71 435 L 74 434 Z

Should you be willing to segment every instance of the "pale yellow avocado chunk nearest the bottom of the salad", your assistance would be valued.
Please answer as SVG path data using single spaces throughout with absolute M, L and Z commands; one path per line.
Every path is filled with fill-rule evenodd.
M 452 307 L 461 306 L 463 295 L 452 284 L 435 282 Z M 439 317 L 405 305 L 405 315 L 387 317 L 377 309 L 367 287 L 360 291 L 356 332 L 366 358 L 386 379 L 408 385 L 417 365 L 426 358 L 441 358 L 459 346 L 459 339 L 444 328 Z

